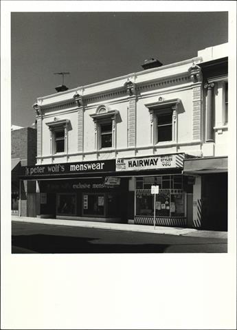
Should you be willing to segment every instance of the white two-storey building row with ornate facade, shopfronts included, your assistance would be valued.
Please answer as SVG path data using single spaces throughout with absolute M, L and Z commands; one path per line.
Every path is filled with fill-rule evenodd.
M 227 44 L 37 99 L 38 217 L 227 230 Z M 58 87 L 57 87 L 58 88 Z

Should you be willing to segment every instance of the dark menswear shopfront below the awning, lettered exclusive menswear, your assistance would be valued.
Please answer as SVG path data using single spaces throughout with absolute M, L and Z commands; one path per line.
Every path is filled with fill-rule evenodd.
M 126 221 L 128 179 L 106 185 L 105 178 L 40 180 L 41 216 L 57 219 Z

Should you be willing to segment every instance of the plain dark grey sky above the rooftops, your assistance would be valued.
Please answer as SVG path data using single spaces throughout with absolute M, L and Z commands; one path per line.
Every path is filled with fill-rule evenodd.
M 61 77 L 79 87 L 163 65 L 228 41 L 227 12 L 12 12 L 12 124 L 30 126 L 32 104 Z

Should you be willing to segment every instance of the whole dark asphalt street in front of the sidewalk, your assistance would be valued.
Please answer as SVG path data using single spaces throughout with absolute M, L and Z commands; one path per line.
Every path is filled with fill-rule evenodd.
M 12 221 L 14 254 L 223 252 L 226 238 Z

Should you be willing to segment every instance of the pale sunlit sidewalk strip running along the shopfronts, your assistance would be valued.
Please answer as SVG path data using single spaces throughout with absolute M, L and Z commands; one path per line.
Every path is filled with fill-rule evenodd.
M 153 234 L 169 234 L 180 236 L 210 237 L 212 239 L 227 239 L 227 232 L 216 232 L 212 230 L 196 230 L 191 228 L 171 228 L 152 225 L 132 225 L 128 223 L 105 223 L 93 221 L 64 220 L 64 219 L 43 219 L 32 217 L 18 217 L 12 215 L 12 221 L 24 223 L 41 223 L 48 225 L 66 225 L 69 227 L 98 228 L 104 230 L 124 230 L 132 232 L 150 232 Z

